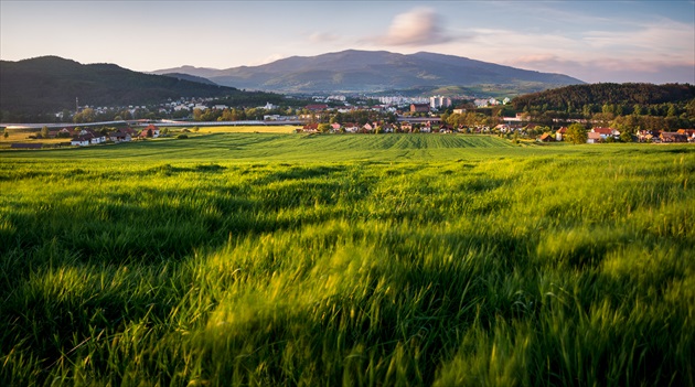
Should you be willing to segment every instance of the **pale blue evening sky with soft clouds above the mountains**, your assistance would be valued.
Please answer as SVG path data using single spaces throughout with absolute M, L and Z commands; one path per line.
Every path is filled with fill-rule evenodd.
M 695 84 L 695 0 L 0 0 L 0 58 L 150 72 L 434 52 L 588 83 Z

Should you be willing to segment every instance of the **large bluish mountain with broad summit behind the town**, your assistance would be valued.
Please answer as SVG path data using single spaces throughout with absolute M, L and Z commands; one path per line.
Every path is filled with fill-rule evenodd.
M 183 66 L 154 74 L 183 73 L 216 84 L 281 93 L 381 92 L 481 84 L 528 86 L 532 90 L 582 84 L 562 74 L 538 73 L 453 55 L 349 50 L 292 56 L 260 66 L 227 69 Z

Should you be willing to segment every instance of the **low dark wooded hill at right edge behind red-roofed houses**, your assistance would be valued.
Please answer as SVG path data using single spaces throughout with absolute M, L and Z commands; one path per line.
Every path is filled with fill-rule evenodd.
M 688 84 L 592 84 L 573 85 L 518 96 L 512 100 L 515 109 L 568 111 L 585 105 L 633 105 L 688 103 L 695 98 L 695 86 Z

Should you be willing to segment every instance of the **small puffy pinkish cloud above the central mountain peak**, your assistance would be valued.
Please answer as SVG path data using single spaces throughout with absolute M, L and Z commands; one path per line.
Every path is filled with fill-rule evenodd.
M 386 45 L 418 46 L 453 41 L 443 29 L 439 15 L 429 8 L 415 8 L 397 14 L 386 35 L 376 41 Z

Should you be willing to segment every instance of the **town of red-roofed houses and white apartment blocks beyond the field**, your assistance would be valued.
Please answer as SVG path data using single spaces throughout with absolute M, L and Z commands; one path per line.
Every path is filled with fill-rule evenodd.
M 368 100 L 376 100 L 368 98 Z M 296 133 L 354 133 L 354 135 L 381 135 L 381 133 L 464 133 L 488 135 L 518 141 L 535 142 L 563 142 L 567 141 L 568 127 L 565 125 L 580 123 L 586 136 L 581 142 L 610 143 L 610 142 L 643 142 L 643 143 L 695 143 L 695 129 L 645 130 L 633 131 L 619 130 L 592 120 L 554 120 L 554 125 L 541 125 L 534 122 L 534 118 L 527 114 L 517 112 L 512 117 L 492 117 L 481 114 L 492 107 L 503 107 L 510 103 L 509 98 L 498 100 L 495 98 L 475 99 L 468 106 L 453 107 L 452 100 L 445 96 L 403 98 L 379 97 L 378 105 L 350 105 L 344 98 L 336 96 L 313 97 L 313 104 L 303 106 L 293 111 L 295 115 L 269 114 L 278 111 L 278 106 L 267 103 L 257 109 L 258 118 L 250 120 L 227 120 L 231 108 L 224 105 L 205 105 L 212 100 L 189 101 L 186 106 L 193 109 L 193 116 L 178 119 L 132 119 L 106 122 L 83 122 L 73 126 L 60 125 L 44 126 L 40 133 L 29 135 L 31 142 L 12 141 L 12 149 L 40 149 L 61 147 L 92 147 L 99 144 L 114 144 L 146 139 L 157 139 L 170 136 L 170 130 L 188 132 L 190 128 L 215 126 L 258 126 L 263 132 L 264 126 L 295 126 Z M 329 106 L 328 103 L 338 103 L 338 106 Z M 171 103 L 177 105 L 180 101 Z M 183 105 L 177 105 L 180 107 Z M 145 109 L 145 107 L 135 107 Z M 97 108 L 98 111 L 98 108 Z M 216 120 L 202 120 L 204 117 L 216 117 Z M 170 129 L 171 128 L 171 129 Z M 6 129 L 7 133 L 7 129 Z M 184 136 L 185 137 L 185 136 Z M 180 138 L 184 138 L 180 137 Z M 7 138 L 7 136 L 6 136 Z M 55 141 L 65 139 L 66 141 Z M 42 140 L 53 140 L 46 143 Z M 68 141 L 70 140 L 70 141 Z M 576 140 L 571 142 L 577 143 Z

